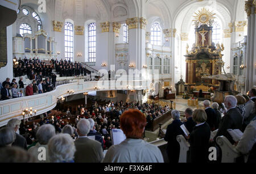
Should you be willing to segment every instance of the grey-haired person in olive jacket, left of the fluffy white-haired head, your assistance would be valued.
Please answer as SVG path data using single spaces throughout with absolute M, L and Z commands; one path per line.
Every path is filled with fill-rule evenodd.
M 49 139 L 51 139 L 55 135 L 55 127 L 48 124 L 39 127 L 38 131 L 36 131 L 36 140 L 38 143 L 34 147 L 31 147 L 28 152 L 33 155 L 36 159 L 38 159 L 38 155 L 41 150 L 39 148 L 44 148 L 47 152 L 45 160 L 39 160 L 40 163 L 49 163 L 49 155 L 48 155 L 48 146 L 47 143 Z

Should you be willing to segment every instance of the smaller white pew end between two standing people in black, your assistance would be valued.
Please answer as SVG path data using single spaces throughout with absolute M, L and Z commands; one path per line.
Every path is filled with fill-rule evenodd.
M 178 135 L 176 139 L 180 144 L 179 163 L 187 163 L 187 152 L 190 144 L 187 142 L 183 135 Z

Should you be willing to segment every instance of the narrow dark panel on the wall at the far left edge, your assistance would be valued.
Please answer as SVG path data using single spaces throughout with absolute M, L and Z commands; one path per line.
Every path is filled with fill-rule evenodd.
M 6 27 L 0 28 L 0 68 L 7 64 L 7 31 Z

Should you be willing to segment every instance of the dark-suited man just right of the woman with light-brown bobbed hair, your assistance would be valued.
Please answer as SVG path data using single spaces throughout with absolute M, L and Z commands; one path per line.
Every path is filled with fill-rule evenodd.
M 204 108 L 205 108 L 205 113 L 207 113 L 207 123 L 210 126 L 210 130 L 214 131 L 216 130 L 217 126 L 217 114 L 215 113 L 214 109 L 210 107 L 210 101 L 205 100 L 204 101 Z

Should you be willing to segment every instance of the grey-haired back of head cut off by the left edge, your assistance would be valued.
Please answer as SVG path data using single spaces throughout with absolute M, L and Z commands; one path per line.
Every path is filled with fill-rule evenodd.
M 3 127 L 0 129 L 0 148 L 11 146 L 16 139 L 16 134 L 11 127 Z

